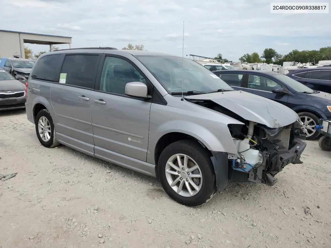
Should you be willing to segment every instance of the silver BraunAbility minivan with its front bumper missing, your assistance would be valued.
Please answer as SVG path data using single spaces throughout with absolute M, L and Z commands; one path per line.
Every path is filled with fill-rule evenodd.
M 157 177 L 187 206 L 206 203 L 228 180 L 271 186 L 306 147 L 290 108 L 234 90 L 190 59 L 147 51 L 41 55 L 26 114 L 42 145 Z

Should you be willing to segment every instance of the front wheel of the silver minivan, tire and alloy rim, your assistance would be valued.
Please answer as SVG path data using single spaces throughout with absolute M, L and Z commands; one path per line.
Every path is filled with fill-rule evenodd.
M 195 141 L 182 140 L 168 145 L 160 155 L 158 174 L 166 193 L 186 206 L 201 206 L 216 193 L 210 155 Z

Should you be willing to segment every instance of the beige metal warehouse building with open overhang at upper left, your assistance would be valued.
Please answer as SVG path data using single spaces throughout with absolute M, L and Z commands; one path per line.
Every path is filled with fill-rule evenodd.
M 67 36 L 0 30 L 0 58 L 10 57 L 25 59 L 24 43 L 49 46 L 58 44 L 69 44 L 69 48 L 71 48 L 71 38 L 72 37 Z

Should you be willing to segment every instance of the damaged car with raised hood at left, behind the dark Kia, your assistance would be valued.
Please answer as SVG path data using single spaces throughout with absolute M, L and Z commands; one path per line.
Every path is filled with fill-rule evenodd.
M 33 65 L 34 62 L 27 59 L 17 59 L 17 58 L 0 59 L 0 68 L 8 71 L 14 77 L 17 75 L 21 76 L 22 78 L 19 80 L 24 84 L 27 82 L 27 79 L 30 75 Z

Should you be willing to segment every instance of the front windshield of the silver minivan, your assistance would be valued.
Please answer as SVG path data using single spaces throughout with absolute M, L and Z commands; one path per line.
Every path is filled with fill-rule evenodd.
M 190 59 L 148 55 L 139 55 L 136 58 L 171 93 L 182 92 L 182 87 L 183 92 L 208 93 L 219 89 L 234 90 L 206 67 Z

